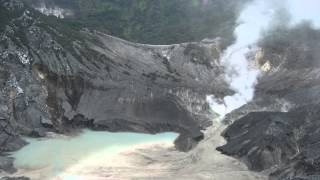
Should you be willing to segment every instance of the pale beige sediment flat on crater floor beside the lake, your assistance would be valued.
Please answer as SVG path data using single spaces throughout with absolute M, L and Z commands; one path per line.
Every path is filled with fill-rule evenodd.
M 188 153 L 174 149 L 170 142 L 137 145 L 110 157 L 96 153 L 50 180 L 265 180 L 266 176 L 248 171 L 240 161 L 222 155 L 216 147 L 225 143 L 216 123 L 206 138 Z M 18 175 L 38 177 L 38 170 L 20 170 Z M 41 179 L 42 180 L 42 179 Z

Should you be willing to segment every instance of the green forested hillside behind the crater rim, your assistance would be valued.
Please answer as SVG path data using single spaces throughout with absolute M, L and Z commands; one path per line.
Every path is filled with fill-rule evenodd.
M 33 4 L 39 0 L 27 0 Z M 234 0 L 48 0 L 74 12 L 64 21 L 130 41 L 173 44 L 224 37 L 232 40 L 237 12 Z

